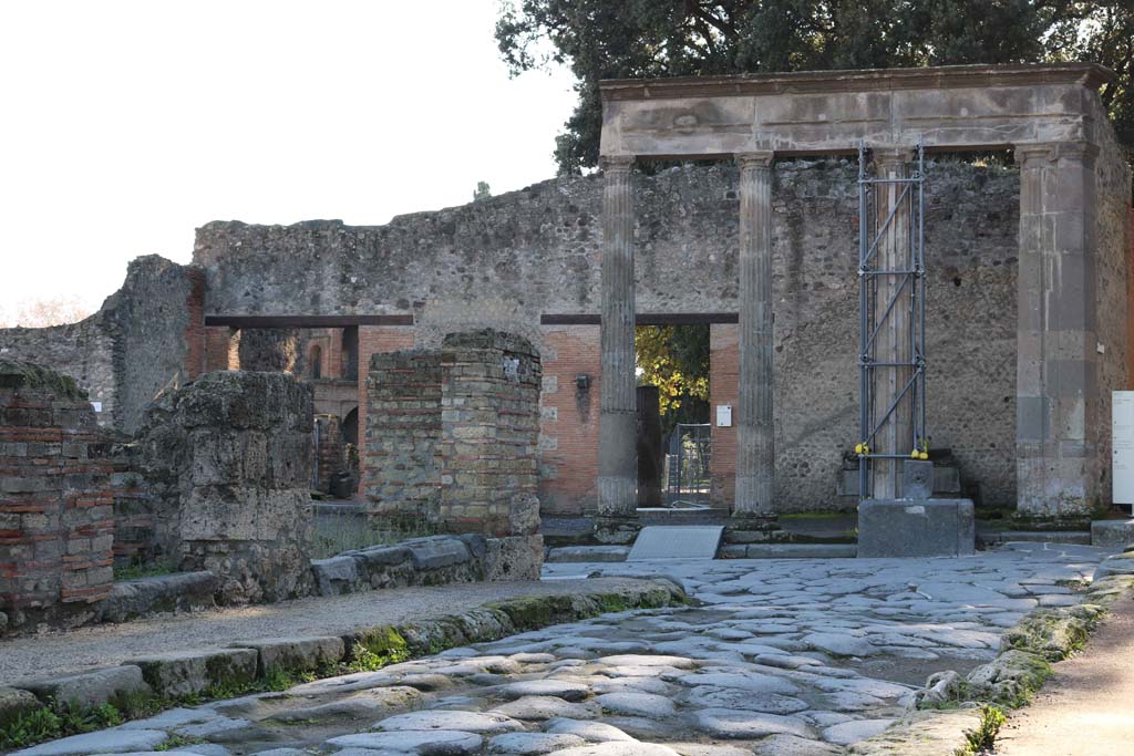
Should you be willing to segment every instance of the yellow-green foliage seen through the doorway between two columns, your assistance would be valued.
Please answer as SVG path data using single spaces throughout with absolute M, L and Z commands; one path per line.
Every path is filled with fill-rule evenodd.
M 638 382 L 658 387 L 662 430 L 704 422 L 709 402 L 709 326 L 640 325 Z

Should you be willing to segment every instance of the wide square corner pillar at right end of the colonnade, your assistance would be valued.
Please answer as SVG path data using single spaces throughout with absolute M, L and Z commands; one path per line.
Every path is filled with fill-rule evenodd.
M 1083 142 L 1016 145 L 1016 485 L 1025 517 L 1086 516 L 1098 499 L 1098 152 Z

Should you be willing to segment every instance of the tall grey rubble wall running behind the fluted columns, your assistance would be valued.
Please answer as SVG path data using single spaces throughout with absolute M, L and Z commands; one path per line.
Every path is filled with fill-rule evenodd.
M 777 498 L 789 510 L 847 503 L 835 481 L 857 434 L 856 176 L 846 160 L 776 168 Z M 736 312 L 736 170 L 675 168 L 635 182 L 638 312 Z M 412 313 L 403 333 L 418 347 L 491 325 L 548 350 L 552 376 L 561 337 L 540 315 L 599 312 L 601 188 L 601 177 L 556 179 L 384 227 L 210 223 L 195 262 L 211 313 Z M 931 443 L 954 449 L 985 503 L 1012 506 L 1018 172 L 936 162 L 926 192 Z M 568 434 L 564 410 L 557 400 L 556 435 L 585 439 L 586 428 Z M 575 458 L 548 445 L 548 474 Z M 589 506 L 575 489 L 590 482 L 570 485 L 556 507 Z

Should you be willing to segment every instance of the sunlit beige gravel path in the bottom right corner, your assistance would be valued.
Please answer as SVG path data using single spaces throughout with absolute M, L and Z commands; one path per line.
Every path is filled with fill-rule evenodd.
M 1035 700 L 1008 717 L 996 753 L 1127 756 L 1134 749 L 1134 600 L 1114 604 L 1086 651 L 1055 670 Z

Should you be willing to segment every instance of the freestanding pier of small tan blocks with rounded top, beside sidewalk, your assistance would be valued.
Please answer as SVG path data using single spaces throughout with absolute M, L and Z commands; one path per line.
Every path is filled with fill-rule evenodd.
M 527 339 L 482 330 L 441 346 L 441 501 L 448 532 L 533 535 L 538 501 L 540 357 Z M 535 504 L 536 509 L 539 504 Z M 525 521 L 519 519 L 527 518 Z

